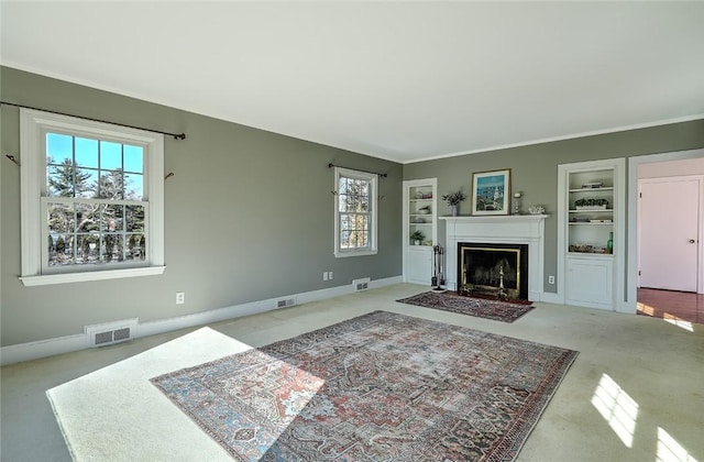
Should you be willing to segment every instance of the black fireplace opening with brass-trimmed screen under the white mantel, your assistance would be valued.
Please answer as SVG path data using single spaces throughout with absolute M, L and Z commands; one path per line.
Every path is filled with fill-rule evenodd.
M 528 245 L 458 242 L 458 292 L 528 299 Z

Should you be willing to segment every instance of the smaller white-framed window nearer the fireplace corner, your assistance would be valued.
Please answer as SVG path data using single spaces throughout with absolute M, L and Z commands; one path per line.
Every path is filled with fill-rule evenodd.
M 377 176 L 336 167 L 336 256 L 373 255 Z

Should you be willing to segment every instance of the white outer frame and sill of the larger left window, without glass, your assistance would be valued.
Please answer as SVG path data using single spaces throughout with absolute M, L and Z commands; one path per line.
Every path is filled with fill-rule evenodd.
M 46 217 L 42 216 L 42 197 L 46 196 L 47 132 L 69 133 L 113 140 L 144 146 L 146 177 L 145 201 L 148 202 L 144 266 L 106 270 L 77 267 L 72 273 L 42 274 L 42 252 L 46 245 Z M 144 130 L 96 122 L 34 109 L 20 109 L 20 202 L 22 237 L 22 276 L 25 286 L 152 276 L 164 273 L 164 135 Z

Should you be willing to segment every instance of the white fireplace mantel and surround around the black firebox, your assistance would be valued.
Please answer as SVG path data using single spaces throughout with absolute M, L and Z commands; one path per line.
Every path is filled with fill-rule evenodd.
M 446 226 L 446 277 L 458 289 L 458 243 L 486 242 L 528 245 L 528 298 L 540 301 L 543 289 L 547 215 L 439 217 Z

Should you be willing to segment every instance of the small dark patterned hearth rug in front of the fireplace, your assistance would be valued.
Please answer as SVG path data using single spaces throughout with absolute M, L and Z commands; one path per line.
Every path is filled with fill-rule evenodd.
M 466 297 L 447 292 L 426 292 L 396 301 L 504 322 L 514 322 L 534 309 L 532 305 Z

